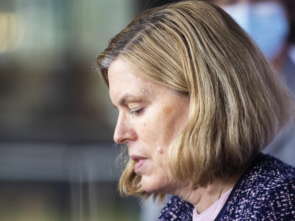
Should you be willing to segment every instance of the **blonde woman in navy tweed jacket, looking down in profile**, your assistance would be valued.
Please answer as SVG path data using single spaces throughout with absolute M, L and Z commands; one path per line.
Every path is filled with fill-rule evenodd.
M 286 85 L 221 8 L 142 12 L 98 56 L 130 160 L 122 194 L 175 197 L 159 220 L 294 220 L 295 170 L 264 149 L 294 115 Z

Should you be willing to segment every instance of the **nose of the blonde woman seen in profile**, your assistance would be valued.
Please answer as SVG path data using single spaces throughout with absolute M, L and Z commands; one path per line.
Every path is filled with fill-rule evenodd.
M 119 113 L 116 129 L 114 132 L 114 141 L 117 144 L 128 143 L 129 141 L 134 141 L 137 138 L 135 130 L 128 119 Z

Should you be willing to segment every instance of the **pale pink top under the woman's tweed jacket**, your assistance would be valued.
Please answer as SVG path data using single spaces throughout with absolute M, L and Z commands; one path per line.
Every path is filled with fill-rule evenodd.
M 213 221 L 217 217 L 220 210 L 222 209 L 231 191 L 232 189 L 229 189 L 225 194 L 223 194 L 220 197 L 220 199 L 218 199 L 211 207 L 209 207 L 207 210 L 205 210 L 201 214 L 199 214 L 196 208 L 194 208 L 193 221 Z

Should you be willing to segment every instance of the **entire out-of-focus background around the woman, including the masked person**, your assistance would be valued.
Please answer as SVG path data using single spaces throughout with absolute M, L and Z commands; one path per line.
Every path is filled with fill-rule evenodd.
M 0 1 L 0 221 L 156 220 L 161 206 L 142 209 L 117 192 L 118 113 L 95 61 L 136 14 L 170 2 Z M 295 93 L 295 1 L 211 2 L 253 37 Z M 295 165 L 294 131 L 266 152 Z

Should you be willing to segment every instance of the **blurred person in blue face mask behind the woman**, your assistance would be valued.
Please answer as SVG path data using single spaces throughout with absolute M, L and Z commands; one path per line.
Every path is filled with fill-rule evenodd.
M 295 94 L 295 1 L 213 0 L 254 39 Z M 290 125 L 265 153 L 295 166 L 295 126 Z

